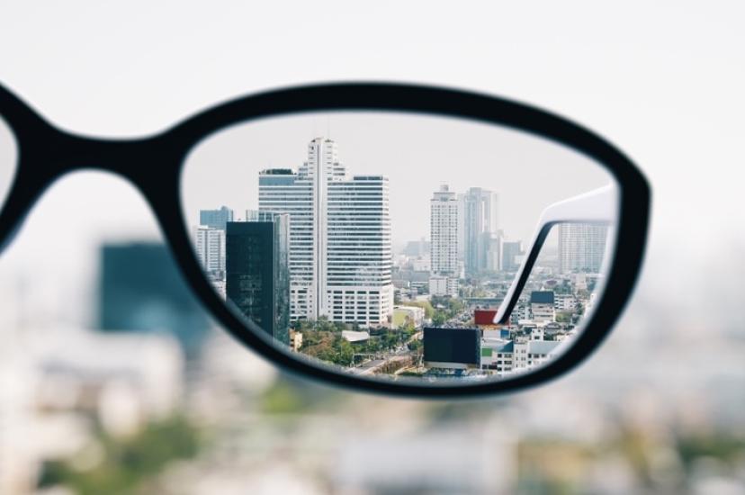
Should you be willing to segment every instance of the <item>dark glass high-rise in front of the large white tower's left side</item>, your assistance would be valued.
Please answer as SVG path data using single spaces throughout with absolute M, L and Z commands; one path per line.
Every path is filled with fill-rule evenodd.
M 290 219 L 271 212 L 255 218 L 227 223 L 226 296 L 241 314 L 289 345 Z

